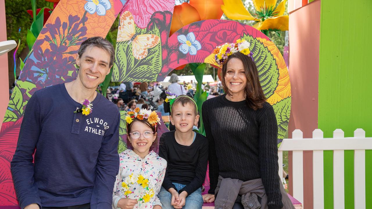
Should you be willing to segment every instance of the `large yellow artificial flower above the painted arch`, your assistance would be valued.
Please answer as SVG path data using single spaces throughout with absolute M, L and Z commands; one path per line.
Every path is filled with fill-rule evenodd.
M 224 0 L 221 9 L 230 19 L 258 21 L 253 27 L 257 30 L 266 30 L 263 32 L 267 35 L 268 30 L 288 30 L 289 16 L 283 15 L 285 2 L 286 0 L 282 0 L 275 8 L 276 0 L 253 0 L 256 12 L 252 15 L 241 0 Z

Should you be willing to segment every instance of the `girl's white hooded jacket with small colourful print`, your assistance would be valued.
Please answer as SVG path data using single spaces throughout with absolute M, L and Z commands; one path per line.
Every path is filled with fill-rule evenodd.
M 121 154 L 120 157 L 120 168 L 119 173 L 116 176 L 116 181 L 114 184 L 113 194 L 112 194 L 112 208 L 118 209 L 117 200 L 125 198 L 124 193 L 121 192 L 122 182 L 124 182 L 125 177 L 130 174 L 142 174 L 146 179 L 149 180 L 150 184 L 155 185 L 154 191 L 155 194 L 150 198 L 150 201 L 147 203 L 141 203 L 138 201 L 141 188 L 136 188 L 133 190 L 133 193 L 128 195 L 128 198 L 137 199 L 138 203 L 134 206 L 135 209 L 151 209 L 155 205 L 161 205 L 158 198 L 160 192 L 161 184 L 163 183 L 165 171 L 167 168 L 167 161 L 159 157 L 154 151 L 149 152 L 145 158 L 141 158 L 133 150 L 126 149 Z M 137 186 L 138 187 L 138 186 Z M 140 186 L 139 186 L 140 187 Z

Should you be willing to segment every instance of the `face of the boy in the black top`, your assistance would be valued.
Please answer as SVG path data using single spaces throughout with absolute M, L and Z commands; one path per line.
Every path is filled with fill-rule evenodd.
M 198 124 L 199 115 L 195 115 L 195 105 L 191 103 L 173 104 L 171 115 L 169 116 L 170 122 L 176 126 L 176 130 L 182 133 L 192 131 L 194 125 Z

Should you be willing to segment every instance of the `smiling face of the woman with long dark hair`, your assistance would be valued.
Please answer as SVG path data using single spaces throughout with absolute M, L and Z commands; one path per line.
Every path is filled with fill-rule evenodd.
M 232 96 L 244 95 L 247 85 L 247 76 L 243 62 L 238 58 L 232 58 L 227 62 L 225 84 Z

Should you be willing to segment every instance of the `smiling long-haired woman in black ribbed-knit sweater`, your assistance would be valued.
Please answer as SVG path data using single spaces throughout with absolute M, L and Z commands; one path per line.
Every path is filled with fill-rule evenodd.
M 235 52 L 222 60 L 221 80 L 226 94 L 206 100 L 202 106 L 210 177 L 209 194 L 203 199 L 214 201 L 221 179 L 261 179 L 267 196 L 262 208 L 279 209 L 283 208 L 282 198 L 289 199 L 282 197 L 280 188 L 276 116 L 266 102 L 252 54 L 246 54 Z M 221 187 L 219 191 L 226 189 Z M 262 204 L 260 197 L 258 200 Z M 241 195 L 235 208 L 243 208 Z

